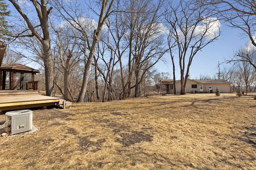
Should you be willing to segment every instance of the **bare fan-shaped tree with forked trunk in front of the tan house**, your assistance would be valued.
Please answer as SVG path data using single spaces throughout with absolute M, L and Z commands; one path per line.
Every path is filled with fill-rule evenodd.
M 220 36 L 220 23 L 214 12 L 197 1 L 169 1 L 165 19 L 170 28 L 170 50 L 176 50 L 180 65 L 181 94 L 186 94 L 186 82 L 193 58 L 198 51 Z

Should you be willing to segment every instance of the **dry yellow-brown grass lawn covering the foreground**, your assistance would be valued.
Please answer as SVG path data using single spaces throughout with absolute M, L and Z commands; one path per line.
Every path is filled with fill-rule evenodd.
M 38 131 L 1 137 L 0 169 L 256 169 L 253 96 L 73 105 L 34 110 Z

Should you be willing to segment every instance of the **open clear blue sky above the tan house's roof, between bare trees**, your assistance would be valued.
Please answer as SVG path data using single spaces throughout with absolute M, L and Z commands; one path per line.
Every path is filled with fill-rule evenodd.
M 212 77 L 218 72 L 218 61 L 222 63 L 225 59 L 232 57 L 234 52 L 238 48 L 243 47 L 248 41 L 248 37 L 241 36 L 241 31 L 239 29 L 230 28 L 222 24 L 220 37 L 213 43 L 204 47 L 204 49 L 194 57 L 190 66 L 190 78 L 199 78 L 200 74 L 206 74 Z M 156 65 L 156 68 L 158 72 L 169 72 L 172 75 L 172 63 L 170 56 L 167 54 L 165 57 L 169 61 L 166 63 L 168 66 L 163 62 L 160 62 Z M 180 80 L 178 57 L 176 63 L 176 80 Z M 220 69 L 224 66 L 231 67 L 232 64 L 220 64 Z

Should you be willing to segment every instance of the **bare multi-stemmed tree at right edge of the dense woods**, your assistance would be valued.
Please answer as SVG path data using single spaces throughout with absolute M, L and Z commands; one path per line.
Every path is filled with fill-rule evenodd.
M 128 89 L 135 89 L 134 97 L 140 96 L 140 83 L 144 81 L 150 70 L 166 53 L 164 45 L 163 27 L 160 24 L 160 12 L 163 1 L 130 0 L 127 6 L 126 22 L 129 43 L 129 76 L 134 70 L 134 85 Z

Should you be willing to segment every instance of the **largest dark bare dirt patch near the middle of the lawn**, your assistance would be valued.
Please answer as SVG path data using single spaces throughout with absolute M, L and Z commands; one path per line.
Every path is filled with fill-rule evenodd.
M 132 131 L 132 133 L 121 133 L 120 137 L 121 138 L 117 138 L 116 141 L 128 147 L 130 145 L 134 145 L 135 143 L 141 143 L 143 141 L 150 142 L 152 141 L 153 136 L 145 134 L 142 131 Z

